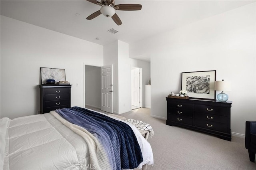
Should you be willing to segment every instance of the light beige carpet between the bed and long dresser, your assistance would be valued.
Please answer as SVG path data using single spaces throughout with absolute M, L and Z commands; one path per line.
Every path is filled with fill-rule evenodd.
M 210 134 L 166 125 L 166 121 L 150 117 L 150 109 L 140 108 L 120 116 L 150 124 L 154 136 L 148 138 L 154 166 L 148 170 L 256 170 L 250 162 L 244 138 L 232 141 Z

